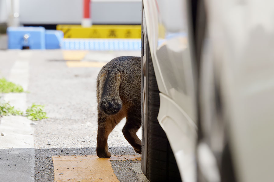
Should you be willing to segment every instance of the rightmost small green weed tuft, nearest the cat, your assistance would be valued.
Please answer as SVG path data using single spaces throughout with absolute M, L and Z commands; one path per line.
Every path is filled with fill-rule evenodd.
M 28 107 L 26 110 L 26 117 L 30 120 L 41 120 L 47 118 L 47 113 L 43 110 L 44 106 L 33 103 L 32 106 Z

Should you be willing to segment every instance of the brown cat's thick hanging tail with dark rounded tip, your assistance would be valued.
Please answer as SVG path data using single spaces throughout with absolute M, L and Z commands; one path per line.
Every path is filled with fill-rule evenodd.
M 122 108 L 119 96 L 121 75 L 115 70 L 100 72 L 97 78 L 98 109 L 107 115 L 118 113 Z

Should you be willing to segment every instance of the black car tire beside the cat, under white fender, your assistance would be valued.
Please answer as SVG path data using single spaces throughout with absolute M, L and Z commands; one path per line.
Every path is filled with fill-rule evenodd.
M 142 150 L 142 166 L 146 166 L 146 168 L 143 169 L 143 173 L 151 182 L 181 181 L 177 163 L 167 136 L 157 120 L 160 108 L 160 92 L 156 82 L 149 44 L 148 41 L 146 42 L 145 70 L 143 70 L 142 67 L 142 71 L 145 71 L 143 75 L 146 75 L 146 77 L 143 76 L 142 78 L 145 79 L 144 84 L 146 84 L 146 91 L 144 92 L 147 94 L 147 99 L 145 99 L 147 114 L 143 116 L 146 117 L 147 129 L 145 130 L 142 127 L 142 134 L 147 136 L 146 150 Z M 144 137 L 142 137 L 142 139 L 143 138 Z

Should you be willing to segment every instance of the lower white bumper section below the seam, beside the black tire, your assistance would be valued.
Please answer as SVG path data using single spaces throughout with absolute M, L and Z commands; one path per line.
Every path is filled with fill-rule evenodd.
M 158 120 L 167 134 L 183 181 L 196 181 L 195 144 L 197 127 L 174 100 L 160 93 Z

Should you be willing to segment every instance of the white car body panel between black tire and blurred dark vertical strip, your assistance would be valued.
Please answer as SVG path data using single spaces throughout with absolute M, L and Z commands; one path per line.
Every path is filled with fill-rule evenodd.
M 182 179 L 195 181 L 197 114 L 186 1 L 143 0 L 146 33 L 160 91 L 158 121 Z

